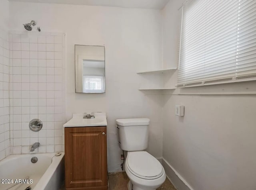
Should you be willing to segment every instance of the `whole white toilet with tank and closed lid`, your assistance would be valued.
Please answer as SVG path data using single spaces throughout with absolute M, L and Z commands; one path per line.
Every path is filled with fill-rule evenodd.
M 166 174 L 161 163 L 144 151 L 148 147 L 148 118 L 116 119 L 119 146 L 128 151 L 125 172 L 130 179 L 129 190 L 156 190 Z

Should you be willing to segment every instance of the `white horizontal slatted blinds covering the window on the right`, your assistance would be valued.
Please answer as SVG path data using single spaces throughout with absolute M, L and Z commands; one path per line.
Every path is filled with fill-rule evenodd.
M 178 87 L 256 80 L 256 0 L 188 0 Z

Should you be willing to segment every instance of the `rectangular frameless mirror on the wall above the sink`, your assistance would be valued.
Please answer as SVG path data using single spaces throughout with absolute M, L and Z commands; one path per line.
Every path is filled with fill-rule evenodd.
M 105 93 L 105 47 L 75 45 L 76 93 Z

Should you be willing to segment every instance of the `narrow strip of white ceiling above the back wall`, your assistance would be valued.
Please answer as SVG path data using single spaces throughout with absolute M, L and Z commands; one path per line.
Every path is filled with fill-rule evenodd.
M 145 8 L 161 10 L 169 0 L 9 0 L 16 2 L 58 3 L 122 8 Z

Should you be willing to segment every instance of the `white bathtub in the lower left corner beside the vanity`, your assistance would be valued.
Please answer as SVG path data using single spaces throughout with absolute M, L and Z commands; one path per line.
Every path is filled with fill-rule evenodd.
M 64 181 L 64 153 L 10 155 L 0 161 L 0 190 L 59 190 Z M 31 162 L 37 157 L 36 163 Z M 15 186 L 14 186 L 15 185 Z

